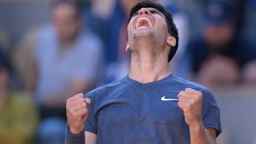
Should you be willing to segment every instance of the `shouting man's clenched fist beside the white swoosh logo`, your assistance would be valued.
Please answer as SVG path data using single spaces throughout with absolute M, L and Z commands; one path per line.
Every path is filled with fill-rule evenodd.
M 195 89 L 186 88 L 185 91 L 180 91 L 177 98 L 179 98 L 177 105 L 184 112 L 186 124 L 188 126 L 201 124 L 203 93 Z

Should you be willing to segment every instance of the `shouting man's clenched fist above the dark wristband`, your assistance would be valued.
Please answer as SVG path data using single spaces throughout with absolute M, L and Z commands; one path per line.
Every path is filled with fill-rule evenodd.
M 83 98 L 83 93 L 68 98 L 66 103 L 66 114 L 70 132 L 73 134 L 79 134 L 83 131 L 88 115 L 87 106 L 89 104 L 91 104 L 91 100 L 89 98 Z

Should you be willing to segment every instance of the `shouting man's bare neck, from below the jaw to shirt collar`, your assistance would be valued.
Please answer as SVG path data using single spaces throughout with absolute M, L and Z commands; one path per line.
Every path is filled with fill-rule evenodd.
M 139 52 L 132 52 L 130 62 L 130 78 L 140 83 L 159 81 L 171 74 L 168 64 L 168 51 L 156 53 L 149 48 L 138 48 Z

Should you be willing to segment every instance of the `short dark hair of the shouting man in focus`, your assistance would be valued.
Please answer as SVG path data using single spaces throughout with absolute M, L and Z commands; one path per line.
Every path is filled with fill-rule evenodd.
M 145 0 L 137 3 L 137 5 L 134 5 L 134 7 L 130 10 L 130 16 L 128 20 L 129 22 L 132 16 L 136 12 L 138 12 L 138 10 L 141 10 L 141 8 L 155 8 L 165 16 L 165 20 L 167 21 L 168 32 L 176 39 L 176 45 L 171 47 L 171 50 L 169 52 L 168 62 L 171 61 L 171 59 L 173 58 L 177 51 L 177 46 L 179 45 L 179 35 L 177 32 L 177 28 L 173 23 L 173 14 L 165 10 L 165 8 L 162 5 L 151 0 Z

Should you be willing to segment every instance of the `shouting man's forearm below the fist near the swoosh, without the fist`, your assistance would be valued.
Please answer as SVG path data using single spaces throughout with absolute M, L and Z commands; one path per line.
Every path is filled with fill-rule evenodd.
M 212 136 L 205 130 L 203 124 L 197 126 L 190 126 L 190 144 L 215 144 L 216 141 L 212 139 Z

